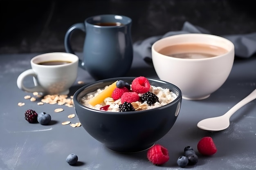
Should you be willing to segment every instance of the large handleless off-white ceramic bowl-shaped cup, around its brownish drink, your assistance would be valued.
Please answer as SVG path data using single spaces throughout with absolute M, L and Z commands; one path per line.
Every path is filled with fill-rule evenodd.
M 159 53 L 166 46 L 194 43 L 222 47 L 227 52 L 201 59 L 176 58 Z M 152 60 L 159 79 L 178 86 L 182 98 L 206 99 L 227 80 L 234 63 L 234 44 L 216 35 L 172 35 L 153 44 Z

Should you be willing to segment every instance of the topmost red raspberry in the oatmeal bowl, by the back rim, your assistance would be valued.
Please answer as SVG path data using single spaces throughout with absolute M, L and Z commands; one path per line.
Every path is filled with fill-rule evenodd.
M 150 83 L 146 77 L 136 77 L 132 81 L 132 91 L 136 93 L 146 93 L 150 89 Z

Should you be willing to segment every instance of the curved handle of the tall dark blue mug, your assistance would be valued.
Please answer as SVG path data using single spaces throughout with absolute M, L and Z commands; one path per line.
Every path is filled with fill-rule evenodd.
M 72 26 L 70 26 L 70 28 L 67 30 L 67 32 L 65 34 L 65 39 L 64 39 L 64 46 L 65 46 L 65 50 L 66 50 L 67 53 L 75 54 L 74 51 L 71 48 L 71 45 L 70 45 L 70 38 L 71 38 L 71 35 L 72 35 L 73 31 L 75 31 L 77 29 L 86 33 L 84 23 L 76 23 L 76 24 L 73 24 Z M 83 67 L 84 62 L 80 59 L 79 59 L 79 64 L 78 65 L 81 68 L 84 68 Z

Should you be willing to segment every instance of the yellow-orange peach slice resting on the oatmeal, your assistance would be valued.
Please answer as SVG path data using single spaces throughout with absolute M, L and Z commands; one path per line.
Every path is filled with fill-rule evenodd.
M 114 89 L 117 87 L 117 81 L 114 82 L 113 84 L 111 84 L 110 86 L 108 86 L 108 88 L 106 88 L 105 90 L 103 90 L 101 93 L 99 93 L 98 95 L 94 96 L 88 103 L 92 106 L 95 106 L 96 104 L 101 104 L 102 102 L 104 102 L 104 99 L 107 97 L 111 97 L 112 92 L 114 91 Z

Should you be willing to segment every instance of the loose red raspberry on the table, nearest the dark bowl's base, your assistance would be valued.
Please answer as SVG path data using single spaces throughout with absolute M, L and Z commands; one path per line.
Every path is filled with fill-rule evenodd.
M 159 144 L 155 144 L 148 150 L 147 157 L 154 165 L 162 165 L 169 160 L 168 150 Z

